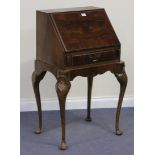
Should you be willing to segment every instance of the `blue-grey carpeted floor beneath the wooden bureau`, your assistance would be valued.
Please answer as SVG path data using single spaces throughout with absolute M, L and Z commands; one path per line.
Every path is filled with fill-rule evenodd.
M 37 112 L 21 112 L 21 155 L 134 155 L 134 109 L 123 108 L 122 136 L 114 133 L 116 109 L 92 109 L 92 122 L 86 110 L 66 111 L 68 150 L 58 149 L 61 137 L 59 111 L 43 112 L 43 132 L 33 133 Z

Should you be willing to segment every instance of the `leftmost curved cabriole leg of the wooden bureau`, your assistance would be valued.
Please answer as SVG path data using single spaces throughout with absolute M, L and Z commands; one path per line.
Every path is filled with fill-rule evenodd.
M 40 134 L 42 130 L 42 112 L 41 112 L 39 83 L 44 78 L 45 74 L 46 74 L 46 71 L 40 73 L 39 75 L 37 75 L 37 73 L 34 71 L 32 74 L 32 84 L 33 84 L 33 89 L 34 89 L 35 98 L 37 102 L 38 118 L 39 118 L 39 127 L 35 130 L 36 134 Z

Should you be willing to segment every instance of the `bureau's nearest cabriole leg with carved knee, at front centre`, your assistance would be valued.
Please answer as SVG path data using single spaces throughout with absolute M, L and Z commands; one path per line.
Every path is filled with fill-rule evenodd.
M 66 150 L 67 144 L 66 144 L 66 132 L 65 132 L 65 103 L 66 103 L 66 97 L 69 92 L 69 89 L 71 87 L 71 84 L 69 81 L 67 81 L 65 78 L 59 78 L 56 83 L 56 91 L 59 99 L 59 106 L 60 106 L 60 117 L 61 117 L 61 128 L 62 128 L 62 139 L 61 144 L 59 146 L 59 149 Z

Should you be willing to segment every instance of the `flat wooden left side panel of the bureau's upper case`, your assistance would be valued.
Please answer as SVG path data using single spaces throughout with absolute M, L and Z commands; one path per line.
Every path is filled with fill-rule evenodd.
M 36 18 L 37 60 L 63 68 L 64 49 L 49 14 L 37 11 Z

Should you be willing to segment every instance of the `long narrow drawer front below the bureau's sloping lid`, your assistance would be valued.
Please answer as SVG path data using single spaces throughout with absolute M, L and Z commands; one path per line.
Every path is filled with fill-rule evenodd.
M 119 60 L 120 50 L 95 52 L 90 54 L 69 55 L 66 57 L 67 66 L 79 66 L 105 61 Z

